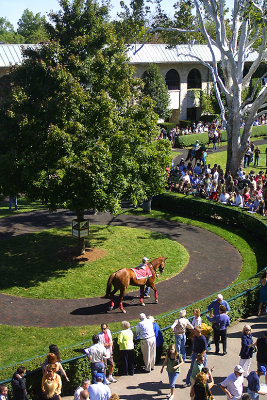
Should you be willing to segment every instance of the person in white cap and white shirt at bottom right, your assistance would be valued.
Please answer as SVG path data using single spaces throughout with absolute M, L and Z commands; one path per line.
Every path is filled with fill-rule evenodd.
M 244 370 L 241 365 L 237 365 L 234 368 L 234 372 L 220 384 L 220 388 L 226 393 L 228 400 L 241 399 L 244 382 L 243 373 Z

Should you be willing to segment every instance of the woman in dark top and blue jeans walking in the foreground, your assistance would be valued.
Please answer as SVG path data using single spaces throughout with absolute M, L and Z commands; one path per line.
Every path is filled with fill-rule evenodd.
M 173 400 L 174 398 L 174 389 L 175 389 L 175 382 L 179 376 L 180 373 L 180 367 L 184 363 L 183 357 L 181 354 L 177 352 L 175 344 L 171 344 L 167 355 L 165 357 L 165 360 L 163 361 L 162 368 L 160 372 L 163 372 L 164 367 L 167 365 L 167 372 L 169 376 L 169 383 L 171 387 L 170 394 L 167 395 L 167 397 L 170 400 Z

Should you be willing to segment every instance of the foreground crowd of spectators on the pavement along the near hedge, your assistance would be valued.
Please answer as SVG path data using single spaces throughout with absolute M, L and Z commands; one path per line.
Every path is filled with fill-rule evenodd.
M 223 352 L 227 354 L 227 327 L 230 321 L 227 313 L 230 306 L 223 296 L 219 294 L 208 306 L 207 319 L 212 322 L 214 335 L 215 353 L 219 355 L 219 340 L 222 339 Z M 130 328 L 127 321 L 122 322 L 122 331 L 118 336 L 120 355 L 123 363 L 123 374 L 134 375 L 134 339 L 140 341 L 143 355 L 143 373 L 150 373 L 156 363 L 156 332 L 157 323 L 153 318 L 140 314 L 140 321 L 135 331 Z M 157 325 L 158 326 L 158 325 Z M 213 370 L 210 368 L 208 351 L 211 351 L 211 327 L 203 324 L 200 310 L 194 310 L 194 317 L 190 322 L 186 318 L 186 310 L 181 310 L 180 317 L 171 326 L 174 332 L 175 343 L 168 348 L 163 360 L 160 372 L 165 367 L 169 379 L 169 393 L 166 395 L 170 400 L 174 399 L 175 383 L 179 378 L 181 368 L 185 368 L 186 358 L 190 358 L 190 366 L 187 372 L 184 387 L 190 386 L 190 397 L 195 400 L 213 399 L 212 388 L 214 386 Z M 107 324 L 101 325 L 99 335 L 93 336 L 93 345 L 85 349 L 85 353 L 91 363 L 91 382 L 85 378 L 74 392 L 74 400 L 119 400 L 117 394 L 111 394 L 110 383 L 117 382 L 112 376 L 112 335 Z M 60 362 L 60 353 L 55 345 L 51 345 L 55 353 L 49 353 L 42 364 L 43 378 L 41 382 L 42 400 L 61 400 L 62 379 L 69 381 L 66 372 Z M 189 350 L 190 349 L 190 350 Z M 189 351 L 188 351 L 189 350 Z M 256 352 L 257 369 L 250 371 L 251 358 Z M 246 324 L 241 335 L 241 346 L 238 365 L 233 367 L 233 373 L 219 383 L 221 390 L 228 399 L 251 400 L 259 399 L 259 395 L 267 394 L 267 331 L 256 340 L 252 337 L 251 326 Z M 159 358 L 161 364 L 162 359 Z M 110 368 L 112 366 L 112 368 Z M 19 367 L 14 373 L 11 386 L 14 400 L 28 400 L 26 382 L 26 368 Z M 265 376 L 264 382 L 260 383 L 261 376 Z M 247 378 L 247 392 L 244 391 L 244 378 Z M 265 384 L 265 385 L 264 385 Z M 8 388 L 0 386 L 0 400 L 8 399 Z

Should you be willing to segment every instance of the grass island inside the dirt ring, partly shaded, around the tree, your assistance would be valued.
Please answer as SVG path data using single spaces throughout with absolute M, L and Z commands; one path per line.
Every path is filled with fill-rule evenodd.
M 178 274 L 189 258 L 176 241 L 144 229 L 91 226 L 89 241 L 91 247 L 103 250 L 105 255 L 83 264 L 58 257 L 61 249 L 77 244 L 69 227 L 2 241 L 0 291 L 42 299 L 103 296 L 109 275 L 122 267 L 138 265 L 144 255 L 151 260 L 161 255 L 168 257 L 159 280 Z

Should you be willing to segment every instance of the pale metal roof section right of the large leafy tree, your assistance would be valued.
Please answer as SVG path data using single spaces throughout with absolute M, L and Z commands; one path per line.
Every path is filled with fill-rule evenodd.
M 204 62 L 212 62 L 211 52 L 207 45 L 177 45 L 175 48 L 168 49 L 165 44 L 145 44 L 137 53 L 141 44 L 130 45 L 128 56 L 131 64 L 169 64 L 169 63 L 199 63 L 200 59 Z M 220 61 L 220 52 L 214 47 L 217 61 Z M 251 53 L 246 61 L 254 61 L 257 53 Z

